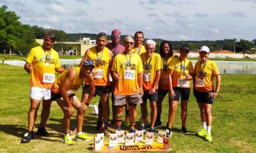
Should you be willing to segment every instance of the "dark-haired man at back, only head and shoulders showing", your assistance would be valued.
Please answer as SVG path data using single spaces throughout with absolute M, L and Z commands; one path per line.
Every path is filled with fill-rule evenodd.
M 144 41 L 144 34 L 142 31 L 137 31 L 134 34 L 134 47 L 133 47 L 133 53 L 136 53 L 138 55 L 140 55 L 141 53 L 145 53 L 145 46 L 142 45 L 143 41 Z

